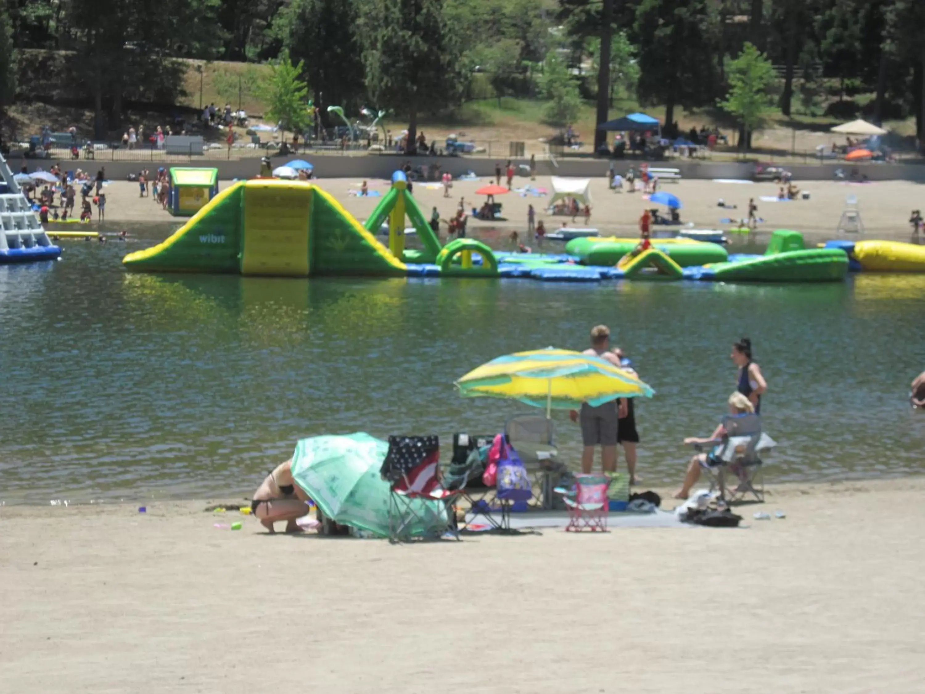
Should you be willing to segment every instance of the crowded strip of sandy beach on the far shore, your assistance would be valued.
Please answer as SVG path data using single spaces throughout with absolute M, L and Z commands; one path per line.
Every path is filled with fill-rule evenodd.
M 463 197 L 466 208 L 483 202 L 482 196 L 475 195 L 475 191 L 486 185 L 487 179 L 479 181 L 454 181 L 451 196 L 443 197 L 442 188 L 436 183 L 417 183 L 413 194 L 425 216 L 429 217 L 431 209 L 436 206 L 440 216 L 444 219 L 455 214 L 459 200 Z M 493 180 L 491 182 L 494 182 Z M 503 182 L 503 181 L 502 181 Z M 362 180 L 353 179 L 320 179 L 316 183 L 327 192 L 333 194 L 347 210 L 358 219 L 365 219 L 376 207 L 380 198 L 357 197 L 350 192 L 360 189 Z M 894 239 L 907 241 L 910 229 L 907 224 L 909 212 L 913 208 L 925 206 L 922 198 L 922 188 L 917 183 L 907 181 L 877 181 L 866 184 L 848 184 L 836 181 L 808 181 L 801 184 L 803 190 L 810 194 L 809 200 L 796 200 L 787 202 L 762 201 L 763 197 L 775 197 L 778 186 L 774 183 L 721 183 L 712 180 L 683 180 L 678 183 L 665 183 L 662 190 L 672 192 L 683 202 L 682 220 L 692 222 L 697 229 L 728 229 L 729 224 L 722 224 L 720 220 L 725 217 L 738 219 L 747 217 L 748 199 L 754 197 L 759 207 L 759 217 L 764 221 L 759 224 L 759 240 L 766 241 L 774 229 L 796 229 L 806 235 L 808 241 L 820 242 L 835 237 L 835 229 L 845 208 L 845 199 L 849 195 L 857 196 L 857 203 L 861 218 L 866 229 L 866 238 Z M 384 194 L 388 191 L 389 183 L 386 180 L 369 180 L 369 189 L 372 192 Z M 230 181 L 222 181 L 221 188 L 230 185 Z M 532 185 L 538 189 L 552 190 L 548 176 L 537 177 L 536 181 L 519 177 L 514 180 L 514 188 Z M 129 181 L 113 181 L 105 188 L 106 192 L 106 227 L 107 230 L 118 229 L 120 224 L 148 223 L 181 223 L 183 217 L 172 217 L 149 198 L 140 198 L 137 183 Z M 640 192 L 617 193 L 608 190 L 607 181 L 601 177 L 592 179 L 591 195 L 593 200 L 590 223 L 587 226 L 596 227 L 605 234 L 638 234 L 637 220 L 647 207 L 657 205 L 648 203 Z M 717 206 L 722 198 L 727 204 L 737 205 L 736 209 L 724 209 Z M 493 238 L 492 231 L 513 229 L 526 229 L 527 205 L 533 204 L 537 210 L 537 219 L 543 219 L 549 231 L 557 229 L 563 221 L 573 227 L 585 227 L 583 217 L 578 217 L 573 223 L 571 217 L 547 216 L 543 208 L 549 202 L 549 196 L 522 197 L 512 192 L 499 196 L 499 202 L 504 205 L 503 212 L 506 221 L 484 222 L 475 218 L 470 219 L 470 233 L 483 229 L 487 231 L 487 239 L 496 247 L 509 244 L 507 233 L 499 233 Z M 94 208 L 94 215 L 95 215 Z M 95 217 L 94 217 L 95 218 Z M 95 222 L 94 222 L 95 224 Z M 77 225 L 69 224 L 60 229 L 78 229 Z M 95 227 L 91 226 L 90 229 Z M 82 228 L 80 228 L 82 229 Z M 656 228 L 668 232 L 672 227 Z M 446 234 L 446 226 L 441 226 L 441 233 Z M 561 248 L 561 246 L 559 246 Z M 550 244 L 553 250 L 557 246 Z

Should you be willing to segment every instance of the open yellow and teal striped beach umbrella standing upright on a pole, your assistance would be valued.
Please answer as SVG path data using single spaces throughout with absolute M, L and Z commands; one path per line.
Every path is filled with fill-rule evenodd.
M 655 392 L 634 374 L 599 356 L 558 350 L 499 356 L 456 381 L 463 397 L 512 398 L 550 410 L 594 406 Z

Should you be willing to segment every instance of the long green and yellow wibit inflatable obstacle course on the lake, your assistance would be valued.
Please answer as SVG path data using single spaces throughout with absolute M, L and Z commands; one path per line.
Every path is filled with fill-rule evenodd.
M 419 249 L 405 248 L 406 219 Z M 388 225 L 388 244 L 376 232 Z M 314 182 L 238 181 L 204 204 L 166 241 L 126 255 L 129 270 L 221 272 L 270 277 L 528 278 L 837 281 L 848 256 L 838 248 L 806 249 L 796 231 L 775 231 L 766 254 L 729 255 L 722 245 L 580 236 L 563 254 L 501 253 L 475 239 L 442 245 L 397 171 L 376 209 L 360 223 Z

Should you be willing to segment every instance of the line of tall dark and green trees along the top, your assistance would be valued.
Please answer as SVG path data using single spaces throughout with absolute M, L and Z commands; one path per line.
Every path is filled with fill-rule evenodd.
M 487 88 L 546 99 L 556 125 L 583 98 L 608 118 L 621 92 L 671 124 L 742 101 L 730 61 L 750 43 L 784 115 L 914 115 L 925 140 L 923 26 L 923 0 L 0 0 L 0 105 L 16 52 L 45 49 L 73 56 L 98 132 L 126 101 L 176 90 L 181 57 L 301 63 L 322 118 L 375 105 L 407 117 L 410 139 L 419 117 Z

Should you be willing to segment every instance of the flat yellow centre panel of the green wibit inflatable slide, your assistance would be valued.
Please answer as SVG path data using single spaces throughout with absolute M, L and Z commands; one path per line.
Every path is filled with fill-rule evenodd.
M 313 187 L 290 180 L 244 184 L 241 275 L 308 277 Z

